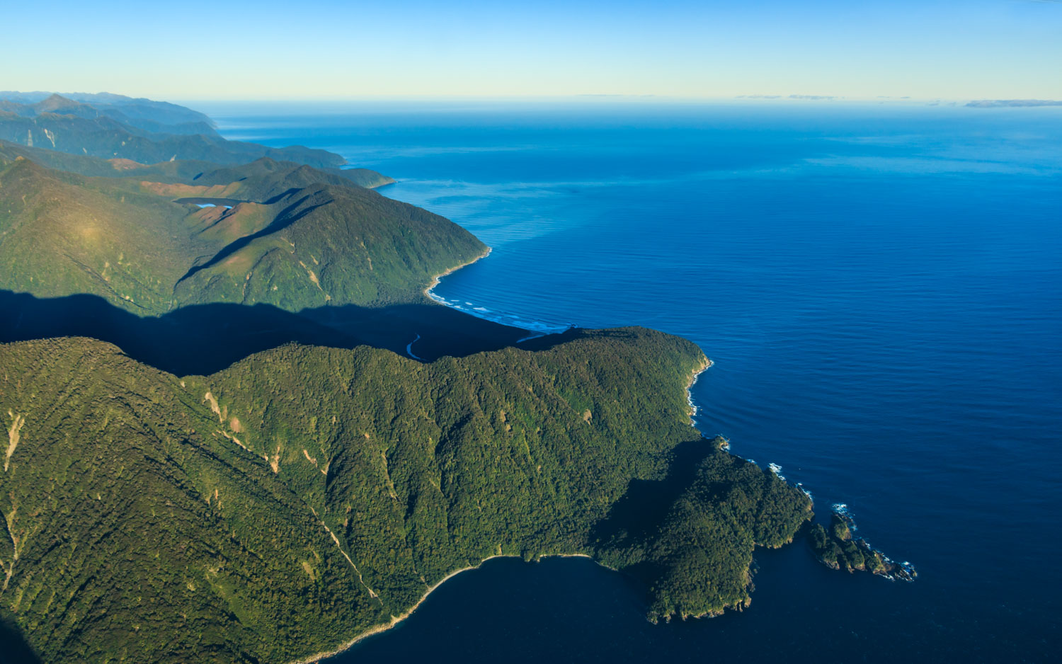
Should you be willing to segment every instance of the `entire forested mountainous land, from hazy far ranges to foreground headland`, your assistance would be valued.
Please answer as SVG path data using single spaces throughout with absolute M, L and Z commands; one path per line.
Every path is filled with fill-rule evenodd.
M 719 615 L 812 518 L 692 426 L 696 344 L 444 307 L 489 250 L 386 176 L 115 97 L 0 108 L 0 619 L 36 657 L 315 661 L 498 556 Z M 845 532 L 827 564 L 900 574 Z

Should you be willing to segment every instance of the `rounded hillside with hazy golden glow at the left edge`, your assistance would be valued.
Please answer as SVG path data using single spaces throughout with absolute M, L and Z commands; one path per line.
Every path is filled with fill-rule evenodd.
M 187 215 L 160 197 L 92 187 L 29 159 L 0 164 L 0 288 L 166 311 L 173 284 L 206 249 L 183 231 Z

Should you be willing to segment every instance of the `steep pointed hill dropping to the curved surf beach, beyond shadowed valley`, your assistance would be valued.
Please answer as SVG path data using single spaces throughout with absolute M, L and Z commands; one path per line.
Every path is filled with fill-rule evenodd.
M 175 301 L 266 303 L 289 311 L 409 301 L 433 275 L 485 250 L 441 217 L 363 189 L 290 191 L 269 205 L 195 214 L 198 236 L 224 245 L 176 284 Z

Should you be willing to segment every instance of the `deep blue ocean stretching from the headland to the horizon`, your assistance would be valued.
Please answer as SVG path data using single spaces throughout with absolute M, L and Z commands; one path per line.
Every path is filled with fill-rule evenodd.
M 495 560 L 338 661 L 1058 657 L 1059 109 L 205 106 L 228 137 L 392 175 L 381 193 L 493 246 L 435 290 L 466 309 L 696 341 L 701 430 L 920 573 L 798 543 L 757 555 L 744 613 L 652 626 L 588 561 Z

